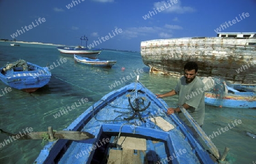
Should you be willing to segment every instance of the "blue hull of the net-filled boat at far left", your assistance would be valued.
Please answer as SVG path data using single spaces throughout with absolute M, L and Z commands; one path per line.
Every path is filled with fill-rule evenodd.
M 51 72 L 48 71 L 47 67 L 41 67 L 30 62 L 27 65 L 34 66 L 36 70 L 30 71 L 11 71 L 6 73 L 0 73 L 0 78 L 3 83 L 17 90 L 25 92 L 34 92 L 40 87 L 47 85 L 51 79 Z M 0 69 L 1 72 L 3 68 Z

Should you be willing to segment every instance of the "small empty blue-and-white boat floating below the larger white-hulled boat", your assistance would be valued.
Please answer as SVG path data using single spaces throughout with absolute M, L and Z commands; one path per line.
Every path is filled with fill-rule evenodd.
M 117 63 L 116 60 L 100 60 L 100 59 L 91 59 L 87 57 L 81 57 L 74 54 L 74 59 L 76 62 L 81 64 L 89 65 L 89 66 L 97 66 L 97 67 L 108 67 L 112 68 L 114 64 Z

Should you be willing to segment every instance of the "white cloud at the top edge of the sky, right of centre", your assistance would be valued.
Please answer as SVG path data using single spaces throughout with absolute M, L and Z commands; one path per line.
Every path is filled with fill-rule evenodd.
M 181 6 L 181 1 L 179 0 L 177 3 L 174 3 L 174 5 L 171 4 L 171 2 L 161 1 L 161 2 L 155 2 L 154 3 L 154 9 L 157 9 L 157 7 L 164 7 L 163 12 L 176 12 L 177 14 L 184 14 L 185 12 L 195 12 L 196 10 L 193 9 L 193 7 L 188 6 Z

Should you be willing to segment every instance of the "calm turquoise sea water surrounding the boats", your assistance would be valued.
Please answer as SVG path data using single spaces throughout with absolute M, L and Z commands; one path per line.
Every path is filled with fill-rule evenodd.
M 177 81 L 174 77 L 150 74 L 139 53 L 102 51 L 99 58 L 117 60 L 117 64 L 111 69 L 92 68 L 75 63 L 73 56 L 60 54 L 55 46 L 20 45 L 11 47 L 10 43 L 0 42 L 0 66 L 21 58 L 40 66 L 55 62 L 55 68 L 51 70 L 51 81 L 42 89 L 32 94 L 13 89 L 0 96 L 0 128 L 11 133 L 26 132 L 26 128 L 34 132 L 48 131 L 49 126 L 60 131 L 103 95 L 133 82 L 137 74 L 143 85 L 155 93 L 171 90 Z M 61 58 L 67 58 L 67 62 L 61 64 Z M 122 71 L 122 67 L 125 70 Z M 0 94 L 5 87 L 0 82 Z M 88 99 L 88 102 L 56 116 L 60 110 L 81 99 Z M 164 100 L 169 106 L 176 106 L 177 96 Z M 240 124 L 235 120 L 241 120 Z M 203 129 L 207 135 L 215 134 L 212 141 L 221 153 L 225 146 L 230 148 L 230 163 L 253 163 L 256 161 L 256 138 L 246 136 L 246 132 L 256 133 L 255 121 L 256 110 L 207 106 Z M 225 127 L 228 131 L 222 132 L 220 129 Z M 0 143 L 8 139 L 0 134 Z M 7 142 L 0 148 L 0 163 L 33 163 L 43 148 L 41 143 L 42 140 Z

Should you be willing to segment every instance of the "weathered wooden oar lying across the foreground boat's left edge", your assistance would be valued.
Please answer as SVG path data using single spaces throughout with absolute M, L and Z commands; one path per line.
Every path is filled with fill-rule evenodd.
M 30 132 L 26 134 L 11 134 L 0 129 L 1 133 L 5 133 L 8 136 L 13 137 L 15 140 L 42 140 L 43 138 L 59 138 L 64 140 L 88 140 L 94 138 L 94 135 L 88 132 L 78 132 L 78 131 L 57 131 L 52 132 L 53 137 L 50 137 L 51 132 Z

